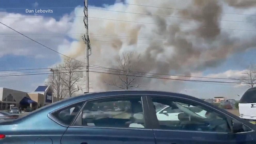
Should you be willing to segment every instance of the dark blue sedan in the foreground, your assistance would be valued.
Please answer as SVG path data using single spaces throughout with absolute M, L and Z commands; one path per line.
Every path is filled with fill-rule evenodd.
M 88 93 L 0 123 L 0 143 L 256 143 L 255 125 L 185 94 Z

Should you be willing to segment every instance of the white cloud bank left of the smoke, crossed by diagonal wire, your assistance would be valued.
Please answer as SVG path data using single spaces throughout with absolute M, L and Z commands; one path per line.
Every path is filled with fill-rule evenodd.
M 6 18 L 2 19 L 1 22 L 7 26 L 54 50 L 57 50 L 58 45 L 63 43 L 65 34 L 71 25 L 71 18 L 61 18 L 57 21 L 53 18 L 34 18 L 41 16 L 6 12 L 0 12 L 0 17 Z M 0 25 L 0 29 L 2 29 L 0 33 L 0 57 L 7 54 L 32 55 L 37 58 L 39 53 L 51 57 L 58 55 L 4 25 Z

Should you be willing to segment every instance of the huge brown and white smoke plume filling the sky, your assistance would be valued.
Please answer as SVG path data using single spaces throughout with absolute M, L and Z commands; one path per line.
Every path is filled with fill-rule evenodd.
M 254 0 L 226 0 L 225 2 L 231 7 L 252 7 L 256 4 Z M 248 39 L 245 31 L 222 28 L 221 20 L 224 11 L 222 1 L 191 0 L 181 3 L 180 1 L 127 0 L 126 3 L 172 7 L 176 10 L 125 3 L 106 5 L 104 8 L 95 7 L 111 11 L 89 9 L 91 64 L 119 69 L 118 56 L 133 52 L 135 55 L 131 58 L 133 71 L 191 76 L 191 73 L 221 65 L 236 52 L 243 52 L 256 46 L 253 40 L 255 34 L 251 33 Z M 75 15 L 81 14 L 82 9 L 77 8 Z M 82 19 L 76 18 L 70 33 L 81 33 L 83 29 Z M 79 48 L 80 46 L 84 47 L 80 44 L 71 47 L 72 57 L 83 55 L 84 48 Z M 143 73 L 137 75 L 148 76 Z M 114 81 L 117 78 L 116 75 L 90 73 L 90 77 L 95 91 L 115 89 L 104 82 Z M 183 82 L 150 78 L 138 78 L 136 83 L 143 85 L 142 89 L 176 92 L 181 90 L 183 84 Z

